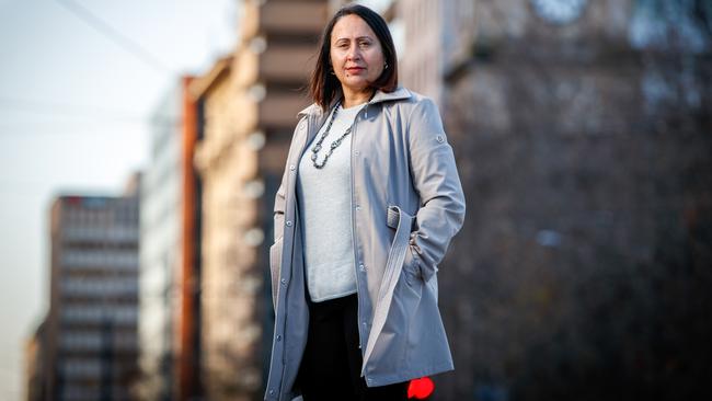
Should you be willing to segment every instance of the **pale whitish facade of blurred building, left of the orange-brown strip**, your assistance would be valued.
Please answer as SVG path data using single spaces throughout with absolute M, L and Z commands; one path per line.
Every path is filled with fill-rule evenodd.
M 141 182 L 139 342 L 141 400 L 173 400 L 181 317 L 181 93 L 176 84 L 156 108 L 149 164 Z

